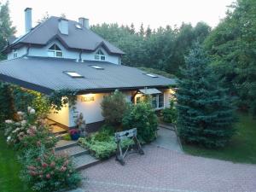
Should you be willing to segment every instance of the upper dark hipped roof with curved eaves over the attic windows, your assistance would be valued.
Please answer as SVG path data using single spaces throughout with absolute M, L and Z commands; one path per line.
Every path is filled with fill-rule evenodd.
M 17 38 L 4 51 L 8 52 L 10 48 L 20 44 L 46 45 L 49 41 L 57 38 L 69 49 L 84 49 L 94 51 L 100 45 L 105 46 L 109 54 L 125 54 L 122 50 L 110 44 L 90 29 L 82 27 L 78 29 L 75 25 L 79 24 L 74 20 L 68 20 L 68 35 L 61 34 L 58 28 L 59 17 L 52 16 L 48 20 L 34 27 L 32 31 L 26 33 L 23 37 Z

